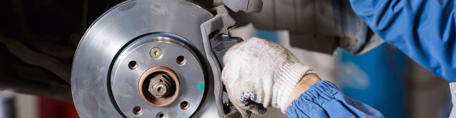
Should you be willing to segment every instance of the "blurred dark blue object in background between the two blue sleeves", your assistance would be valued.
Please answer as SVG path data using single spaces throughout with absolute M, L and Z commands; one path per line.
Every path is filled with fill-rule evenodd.
M 337 87 L 350 98 L 376 108 L 385 118 L 405 118 L 408 61 L 399 49 L 389 44 L 381 44 L 359 56 L 337 49 Z

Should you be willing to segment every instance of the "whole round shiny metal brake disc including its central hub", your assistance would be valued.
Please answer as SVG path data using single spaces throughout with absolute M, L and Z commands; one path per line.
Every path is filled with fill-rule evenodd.
M 91 25 L 73 59 L 82 118 L 218 117 L 200 25 L 186 0 L 127 0 Z

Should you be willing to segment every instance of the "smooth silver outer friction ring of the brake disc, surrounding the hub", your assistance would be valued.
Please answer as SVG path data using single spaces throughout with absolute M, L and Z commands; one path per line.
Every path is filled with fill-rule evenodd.
M 200 29 L 200 25 L 212 17 L 214 15 L 206 9 L 185 0 L 128 0 L 106 11 L 84 34 L 73 59 L 71 85 L 79 116 L 125 118 L 127 115 L 122 113 L 112 94 L 110 70 L 119 52 L 132 41 L 145 34 L 164 32 L 195 51 L 203 68 L 205 95 L 192 117 L 218 117 L 212 71 L 207 64 Z M 172 61 L 176 63 L 175 59 Z M 192 105 L 190 103 L 190 107 Z M 128 112 L 131 113 L 132 108 Z M 154 116 L 159 114 L 150 117 Z

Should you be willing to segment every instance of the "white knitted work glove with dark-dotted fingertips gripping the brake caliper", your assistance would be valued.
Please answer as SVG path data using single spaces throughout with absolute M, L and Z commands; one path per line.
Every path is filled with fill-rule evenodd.
M 223 57 L 222 81 L 228 97 L 241 114 L 263 114 L 280 108 L 296 84 L 312 68 L 299 62 L 287 49 L 257 37 L 234 45 Z

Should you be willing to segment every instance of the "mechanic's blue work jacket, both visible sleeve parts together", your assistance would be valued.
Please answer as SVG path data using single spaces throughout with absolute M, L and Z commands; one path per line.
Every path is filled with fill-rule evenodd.
M 355 13 L 386 43 L 393 44 L 435 75 L 456 82 L 453 0 L 350 0 L 350 3 Z M 285 112 L 290 118 L 384 118 L 375 108 L 347 97 L 325 80 L 311 85 Z

